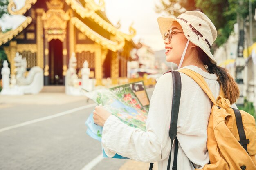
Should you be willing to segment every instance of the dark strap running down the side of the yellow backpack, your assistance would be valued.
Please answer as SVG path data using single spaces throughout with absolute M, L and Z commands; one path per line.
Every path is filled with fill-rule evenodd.
M 245 130 L 243 128 L 242 115 L 238 109 L 236 108 L 232 108 L 232 109 L 234 110 L 235 117 L 236 117 L 236 126 L 237 126 L 239 139 L 240 139 L 240 141 L 238 142 L 243 146 L 243 148 L 247 152 L 247 144 L 249 144 L 249 140 L 246 139 Z

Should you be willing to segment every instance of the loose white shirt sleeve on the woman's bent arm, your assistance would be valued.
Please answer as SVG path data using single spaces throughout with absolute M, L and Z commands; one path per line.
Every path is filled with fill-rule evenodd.
M 146 132 L 122 123 L 111 115 L 105 122 L 102 146 L 108 157 L 115 153 L 135 161 L 154 162 L 169 156 L 171 140 L 168 136 L 172 97 L 171 73 L 159 78 L 150 100 Z

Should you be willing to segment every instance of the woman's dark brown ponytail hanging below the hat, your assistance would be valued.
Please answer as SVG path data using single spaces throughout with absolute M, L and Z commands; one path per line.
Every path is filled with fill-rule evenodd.
M 213 64 L 207 54 L 198 47 L 198 59 L 203 62 L 204 65 L 208 66 L 210 73 L 216 74 L 218 82 L 222 87 L 226 99 L 229 99 L 230 103 L 233 104 L 239 98 L 239 88 L 234 78 L 228 73 L 226 68 Z

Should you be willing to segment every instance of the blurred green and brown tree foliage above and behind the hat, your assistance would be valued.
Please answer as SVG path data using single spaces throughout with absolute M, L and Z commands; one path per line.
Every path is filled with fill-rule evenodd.
M 256 0 L 251 1 L 254 15 Z M 168 15 L 178 16 L 185 11 L 199 10 L 206 14 L 218 31 L 215 41 L 217 46 L 227 41 L 230 33 L 234 30 L 237 16 L 245 19 L 249 15 L 249 0 L 160 0 L 160 3 L 160 5 L 156 5 L 157 13 L 164 12 Z

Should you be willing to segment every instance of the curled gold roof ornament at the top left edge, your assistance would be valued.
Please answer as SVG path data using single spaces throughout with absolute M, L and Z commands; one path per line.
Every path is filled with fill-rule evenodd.
M 12 15 L 23 15 L 24 13 L 27 12 L 27 10 L 29 10 L 32 5 L 34 5 L 36 3 L 37 0 L 26 0 L 25 1 L 25 5 L 19 9 L 18 11 L 16 10 L 16 4 L 15 2 L 13 2 L 13 0 L 9 0 L 9 4 L 7 6 L 8 12 Z M 13 11 L 13 9 L 15 11 Z

